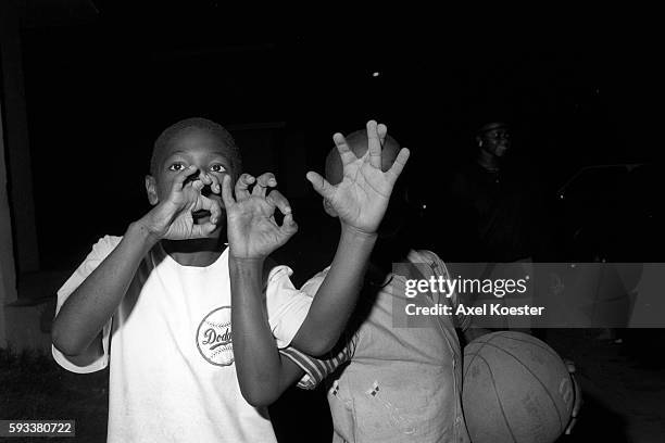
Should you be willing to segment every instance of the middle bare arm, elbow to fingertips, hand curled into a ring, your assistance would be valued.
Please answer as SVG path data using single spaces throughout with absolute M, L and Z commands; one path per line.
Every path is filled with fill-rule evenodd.
M 248 187 L 254 182 L 250 194 Z M 266 257 L 298 230 L 288 201 L 278 191 L 265 195 L 266 188 L 276 183 L 269 173 L 258 179 L 243 174 L 234 198 L 230 177 L 222 182 L 228 225 L 234 357 L 242 396 L 254 406 L 277 400 L 288 385 L 283 380 L 291 368 L 283 367 L 262 291 Z M 276 207 L 285 214 L 281 226 L 275 221 Z

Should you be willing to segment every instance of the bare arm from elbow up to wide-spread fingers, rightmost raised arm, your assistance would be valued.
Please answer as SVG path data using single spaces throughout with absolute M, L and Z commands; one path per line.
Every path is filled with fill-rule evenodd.
M 403 148 L 391 167 L 382 172 L 381 147 L 388 128 L 369 121 L 366 130 L 367 150 L 361 157 L 353 153 L 341 134 L 332 137 L 343 168 L 339 183 L 330 185 L 313 172 L 308 174 L 326 206 L 341 223 L 341 237 L 330 271 L 292 341 L 293 346 L 314 356 L 335 346 L 353 312 L 379 224 L 409 159 L 409 150 Z

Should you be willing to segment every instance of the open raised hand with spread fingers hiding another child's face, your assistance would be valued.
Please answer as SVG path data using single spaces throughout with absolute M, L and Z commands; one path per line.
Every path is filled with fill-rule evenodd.
M 360 159 L 344 137 L 335 134 L 332 140 L 343 166 L 342 181 L 334 186 L 317 173 L 310 172 L 306 176 L 343 224 L 366 233 L 377 231 L 394 182 L 409 160 L 409 150 L 402 148 L 390 169 L 381 170 L 381 145 L 387 131 L 386 125 L 367 122 L 367 152 Z

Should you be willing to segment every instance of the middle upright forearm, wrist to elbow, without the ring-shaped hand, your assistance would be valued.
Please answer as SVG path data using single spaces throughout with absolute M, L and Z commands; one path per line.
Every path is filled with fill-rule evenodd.
M 281 393 L 281 363 L 262 300 L 263 260 L 229 257 L 231 334 L 242 396 L 260 406 Z

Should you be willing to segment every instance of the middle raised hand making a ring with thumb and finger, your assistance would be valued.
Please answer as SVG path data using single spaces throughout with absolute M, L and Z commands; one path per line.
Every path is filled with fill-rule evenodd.
M 250 193 L 249 187 L 254 185 Z M 243 174 L 231 193 L 230 177 L 222 182 L 222 199 L 226 208 L 229 254 L 238 260 L 263 260 L 285 244 L 297 231 L 288 200 L 277 190 L 266 195 L 266 189 L 277 186 L 271 173 L 258 179 Z M 284 214 L 281 226 L 275 220 L 275 208 Z

